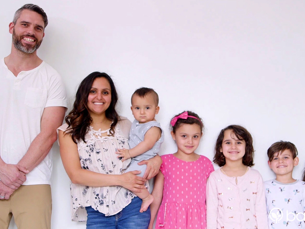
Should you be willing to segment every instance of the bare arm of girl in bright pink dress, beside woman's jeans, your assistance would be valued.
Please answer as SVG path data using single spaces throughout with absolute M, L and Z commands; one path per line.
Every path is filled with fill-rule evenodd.
M 152 190 L 152 196 L 154 197 L 154 201 L 150 205 L 150 222 L 148 229 L 152 229 L 160 204 L 162 202 L 163 186 L 164 186 L 163 182 L 164 182 L 164 176 L 161 173 L 161 171 L 159 171 L 159 173 L 156 176 L 155 184 Z

